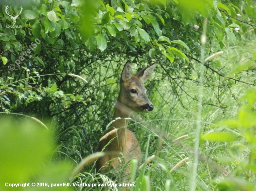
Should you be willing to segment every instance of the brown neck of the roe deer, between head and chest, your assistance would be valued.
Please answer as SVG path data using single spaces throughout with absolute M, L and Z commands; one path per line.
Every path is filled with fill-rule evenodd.
M 128 120 L 124 120 L 124 118 L 127 118 L 130 116 L 132 110 L 128 108 L 127 106 L 123 105 L 119 100 L 117 100 L 115 105 L 115 112 L 113 115 L 113 120 L 115 120 L 117 117 L 120 117 L 120 120 L 114 121 L 111 126 L 115 128 L 120 127 L 127 127 Z

